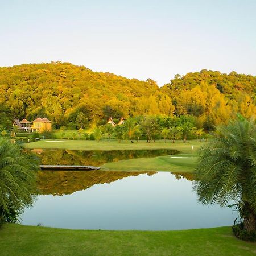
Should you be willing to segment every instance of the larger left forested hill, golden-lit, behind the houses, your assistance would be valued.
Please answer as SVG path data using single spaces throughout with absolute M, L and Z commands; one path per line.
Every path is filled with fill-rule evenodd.
M 57 126 L 72 126 L 79 112 L 88 122 L 174 112 L 171 99 L 150 79 L 126 79 L 60 62 L 0 68 L 0 102 L 14 118 L 46 116 Z

